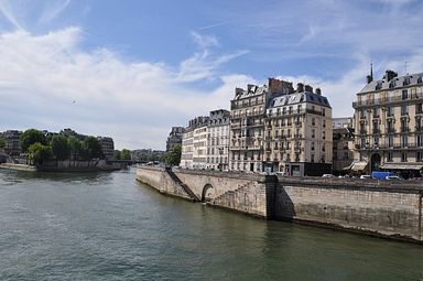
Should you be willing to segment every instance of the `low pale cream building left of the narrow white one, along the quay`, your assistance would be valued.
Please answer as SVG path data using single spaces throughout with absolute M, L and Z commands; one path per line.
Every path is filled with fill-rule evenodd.
M 207 125 L 209 117 L 189 120 L 182 134 L 181 167 L 205 169 L 207 166 Z

